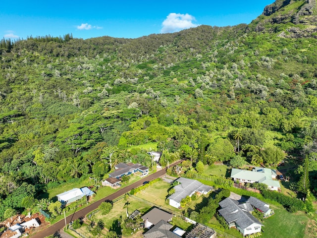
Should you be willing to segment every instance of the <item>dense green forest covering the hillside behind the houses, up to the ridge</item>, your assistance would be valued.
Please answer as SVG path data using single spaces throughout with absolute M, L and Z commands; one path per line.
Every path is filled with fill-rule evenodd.
M 249 25 L 1 40 L 0 220 L 48 186 L 151 167 L 147 143 L 162 166 L 287 157 L 290 187 L 317 195 L 315 20 L 316 0 L 277 0 Z

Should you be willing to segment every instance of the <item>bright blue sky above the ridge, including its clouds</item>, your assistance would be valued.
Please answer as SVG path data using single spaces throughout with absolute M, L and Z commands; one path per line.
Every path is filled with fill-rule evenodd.
M 274 0 L 14 0 L 1 2 L 0 38 L 138 38 L 198 25 L 250 23 Z

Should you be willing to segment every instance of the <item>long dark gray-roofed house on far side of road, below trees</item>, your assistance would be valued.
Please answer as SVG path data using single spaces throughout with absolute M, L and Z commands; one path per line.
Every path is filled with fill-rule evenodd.
M 119 163 L 114 166 L 115 171 L 113 173 L 109 174 L 109 177 L 111 178 L 116 178 L 116 179 L 121 179 L 122 176 L 126 175 L 131 175 L 136 172 L 141 172 L 141 173 L 148 173 L 149 168 L 140 164 L 133 164 L 133 163 Z

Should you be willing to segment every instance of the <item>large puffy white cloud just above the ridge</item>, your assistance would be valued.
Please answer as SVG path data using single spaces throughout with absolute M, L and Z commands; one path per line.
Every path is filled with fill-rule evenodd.
M 161 33 L 171 33 L 199 26 L 198 24 L 194 24 L 193 21 L 196 21 L 195 17 L 187 13 L 169 13 L 169 15 L 163 21 L 163 27 L 160 31 Z

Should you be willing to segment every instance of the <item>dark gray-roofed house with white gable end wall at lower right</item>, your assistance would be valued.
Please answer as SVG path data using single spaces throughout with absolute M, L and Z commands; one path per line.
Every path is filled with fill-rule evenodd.
M 263 226 L 248 210 L 245 205 L 229 197 L 219 202 L 221 209 L 218 213 L 227 222 L 229 228 L 236 227 L 243 236 L 261 233 Z

